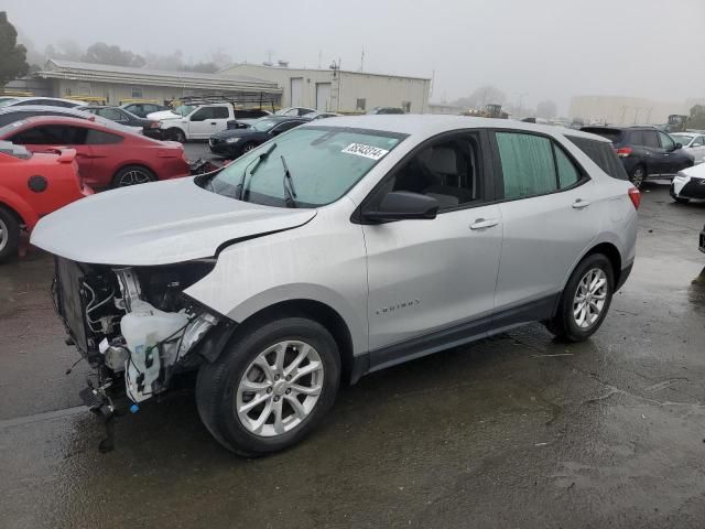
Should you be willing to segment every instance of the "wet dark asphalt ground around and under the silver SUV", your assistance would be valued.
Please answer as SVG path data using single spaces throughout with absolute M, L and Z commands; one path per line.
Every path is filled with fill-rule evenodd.
M 210 439 L 187 385 L 100 454 L 29 248 L 0 266 L 0 528 L 704 527 L 705 205 L 648 190 L 590 341 L 531 325 L 377 373 L 260 460 Z

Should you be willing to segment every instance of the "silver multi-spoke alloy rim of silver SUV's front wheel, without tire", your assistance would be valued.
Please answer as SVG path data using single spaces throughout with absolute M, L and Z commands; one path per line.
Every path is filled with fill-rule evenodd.
M 271 438 L 299 427 L 323 390 L 321 356 L 301 341 L 280 342 L 259 354 L 238 385 L 235 409 L 240 423 Z

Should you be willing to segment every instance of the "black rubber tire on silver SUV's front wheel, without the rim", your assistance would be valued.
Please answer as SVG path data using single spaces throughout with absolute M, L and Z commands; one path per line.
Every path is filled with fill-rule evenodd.
M 321 393 L 306 418 L 292 430 L 273 436 L 257 435 L 238 417 L 238 386 L 261 353 L 284 341 L 305 342 L 316 350 L 323 364 Z M 238 455 L 256 457 L 292 446 L 314 430 L 333 406 L 339 384 L 340 357 L 330 333 L 312 320 L 282 317 L 241 330 L 216 361 L 200 366 L 196 406 L 200 420 L 220 444 Z

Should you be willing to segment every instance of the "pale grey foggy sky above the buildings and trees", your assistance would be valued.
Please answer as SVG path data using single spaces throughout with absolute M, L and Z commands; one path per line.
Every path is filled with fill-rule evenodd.
M 0 0 L 43 50 L 61 39 L 135 53 L 272 60 L 431 77 L 432 100 L 494 84 L 524 105 L 572 95 L 705 97 L 705 2 L 680 0 Z

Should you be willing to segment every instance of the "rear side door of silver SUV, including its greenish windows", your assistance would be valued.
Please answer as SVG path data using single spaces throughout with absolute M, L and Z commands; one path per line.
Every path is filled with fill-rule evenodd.
M 547 317 L 578 257 L 596 238 L 596 184 L 553 138 L 496 131 L 503 196 L 494 330 Z

